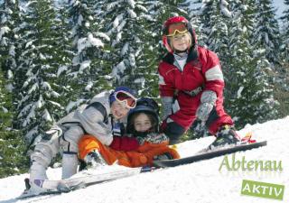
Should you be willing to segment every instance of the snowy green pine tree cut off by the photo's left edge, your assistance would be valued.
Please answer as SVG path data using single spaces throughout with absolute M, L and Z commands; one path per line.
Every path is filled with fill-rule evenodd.
M 13 129 L 12 106 L 15 62 L 15 26 L 18 20 L 18 1 L 0 2 L 0 178 L 27 171 L 25 144 L 19 132 Z M 7 76 L 7 77 L 5 77 Z M 8 78 L 8 79 L 5 79 Z

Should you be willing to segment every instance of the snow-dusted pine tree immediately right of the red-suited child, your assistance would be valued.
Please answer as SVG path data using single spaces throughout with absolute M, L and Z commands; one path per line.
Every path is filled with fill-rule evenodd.
M 262 51 L 253 49 L 249 41 L 253 33 L 254 7 L 237 0 L 232 11 L 225 104 L 236 125 L 243 127 L 275 118 L 277 112 L 267 73 L 270 64 Z

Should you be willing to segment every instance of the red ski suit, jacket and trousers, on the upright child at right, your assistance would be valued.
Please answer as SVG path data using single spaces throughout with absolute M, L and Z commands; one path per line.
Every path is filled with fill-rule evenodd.
M 218 98 L 215 104 L 217 115 L 211 120 L 210 133 L 215 134 L 221 125 L 233 124 L 223 108 L 225 83 L 216 53 L 196 45 L 189 51 L 183 70 L 178 68 L 173 54 L 167 53 L 158 72 L 160 96 L 174 97 L 178 104 L 178 109 L 174 109 L 169 116 L 172 121 L 187 130 L 196 119 L 201 93 L 211 90 L 216 92 Z

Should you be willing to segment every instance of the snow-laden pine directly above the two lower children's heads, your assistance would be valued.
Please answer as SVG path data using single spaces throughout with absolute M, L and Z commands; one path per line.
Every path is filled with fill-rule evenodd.
M 102 32 L 110 38 L 109 56 L 112 61 L 111 76 L 116 78 L 116 86 L 126 85 L 131 88 L 144 85 L 144 78 L 139 77 L 148 64 L 144 60 L 144 37 L 147 30 L 147 9 L 138 1 L 103 1 L 98 15 Z

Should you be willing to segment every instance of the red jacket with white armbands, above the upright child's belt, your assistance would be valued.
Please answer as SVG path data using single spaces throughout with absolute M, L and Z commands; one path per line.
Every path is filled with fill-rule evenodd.
M 173 97 L 176 89 L 191 91 L 202 86 L 203 90 L 212 90 L 218 97 L 222 96 L 224 79 L 216 53 L 196 46 L 189 52 L 183 71 L 173 64 L 174 61 L 173 54 L 167 53 L 159 65 L 161 97 Z

